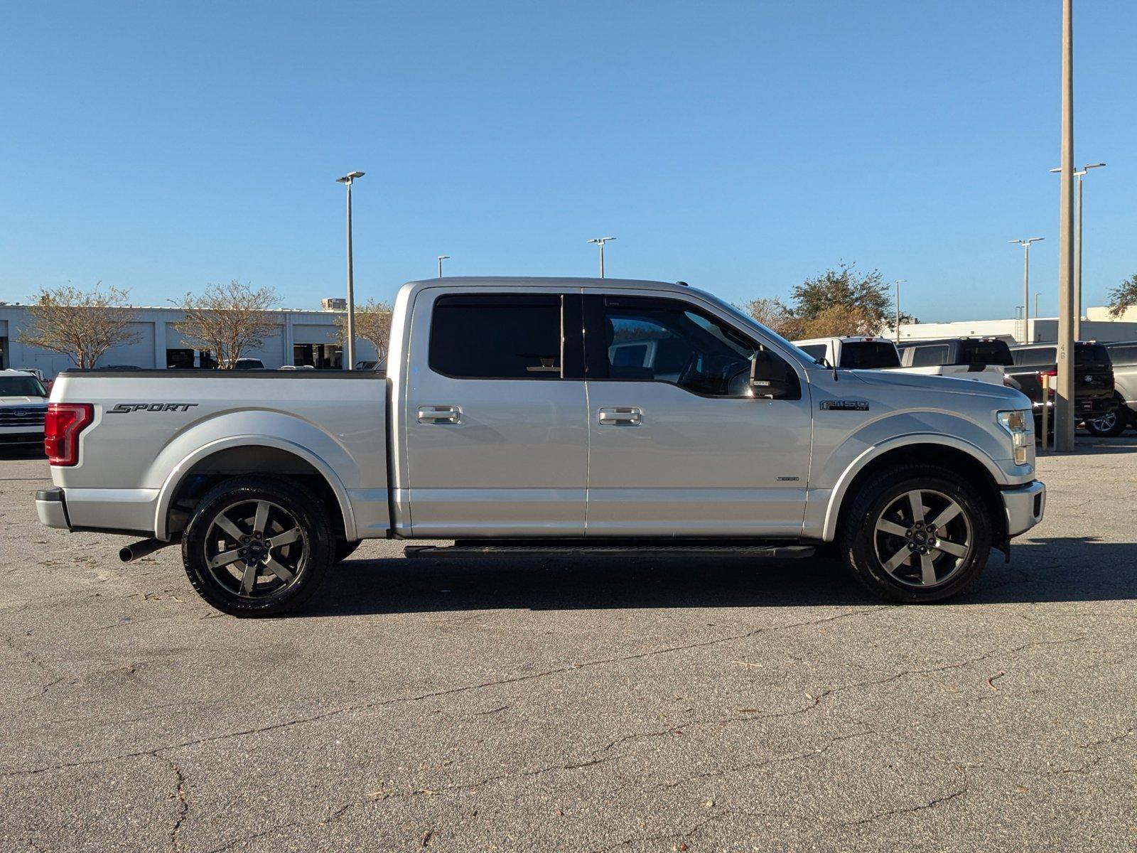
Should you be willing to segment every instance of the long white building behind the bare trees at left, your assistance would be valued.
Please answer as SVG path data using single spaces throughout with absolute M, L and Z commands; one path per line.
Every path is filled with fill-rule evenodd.
M 260 349 L 242 356 L 259 358 L 266 367 L 285 364 L 310 364 L 314 367 L 342 367 L 342 340 L 335 328 L 338 310 L 301 310 L 280 308 L 268 312 L 277 318 L 277 332 L 264 339 Z M 111 347 L 99 359 L 99 366 L 130 365 L 134 367 L 194 367 L 201 366 L 201 351 L 188 346 L 174 323 L 184 314 L 180 308 L 136 308 L 133 331 L 138 341 Z M 19 342 L 19 330 L 27 322 L 26 305 L 0 305 L 0 368 L 38 367 L 45 379 L 74 366 L 59 353 L 51 353 Z M 365 340 L 356 342 L 356 358 L 375 358 L 375 348 Z M 206 364 L 209 357 L 206 355 Z

